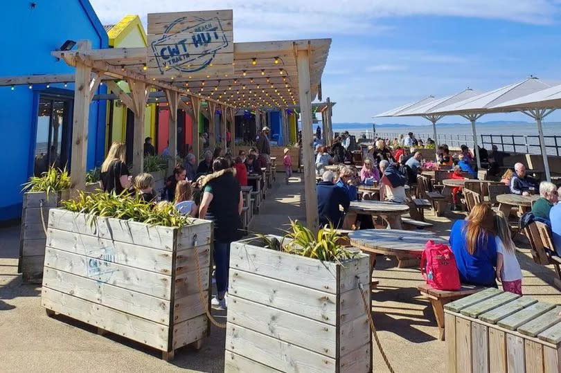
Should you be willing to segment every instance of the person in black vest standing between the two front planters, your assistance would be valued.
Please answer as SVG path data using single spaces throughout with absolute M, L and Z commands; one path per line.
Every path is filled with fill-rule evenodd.
M 226 308 L 228 271 L 230 266 L 230 244 L 242 238 L 240 214 L 243 197 L 240 183 L 235 179 L 234 170 L 226 168 L 222 157 L 213 162 L 213 174 L 202 181 L 203 197 L 199 207 L 201 219 L 214 221 L 214 260 L 216 265 L 217 296 L 213 307 Z

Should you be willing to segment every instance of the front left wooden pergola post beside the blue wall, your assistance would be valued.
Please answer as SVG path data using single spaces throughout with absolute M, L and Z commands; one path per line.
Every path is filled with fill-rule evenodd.
M 79 50 L 91 48 L 89 40 L 78 42 Z M 72 176 L 71 190 L 84 190 L 86 186 L 86 166 L 88 154 L 88 118 L 90 102 L 90 75 L 91 67 L 82 64 L 76 59 L 76 72 L 74 74 L 74 111 L 72 121 L 72 156 L 70 174 Z

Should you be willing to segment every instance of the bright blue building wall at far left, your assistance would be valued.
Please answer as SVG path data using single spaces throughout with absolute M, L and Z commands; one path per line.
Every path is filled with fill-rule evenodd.
M 34 6 L 33 6 L 34 4 Z M 107 48 L 107 33 L 88 0 L 4 1 L 0 12 L 0 75 L 74 73 L 51 51 L 66 39 L 89 39 L 91 48 Z M 0 87 L 0 134 L 4 177 L 0 181 L 0 221 L 21 215 L 21 184 L 33 173 L 39 94 L 73 98 L 73 84 Z M 105 91 L 100 87 L 99 92 Z M 89 112 L 88 168 L 103 161 L 105 101 L 94 101 Z

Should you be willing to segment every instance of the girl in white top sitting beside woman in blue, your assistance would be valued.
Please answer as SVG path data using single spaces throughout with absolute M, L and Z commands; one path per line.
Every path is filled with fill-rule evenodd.
M 510 238 L 508 220 L 497 211 L 495 215 L 497 236 L 497 280 L 502 282 L 503 290 L 522 295 L 522 271 L 516 259 L 516 246 Z

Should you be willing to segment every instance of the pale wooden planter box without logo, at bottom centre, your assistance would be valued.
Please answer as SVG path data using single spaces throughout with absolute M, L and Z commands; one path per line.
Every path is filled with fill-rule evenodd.
M 231 244 L 224 372 L 371 372 L 368 255 L 338 265 Z M 369 307 L 368 307 L 369 308 Z

